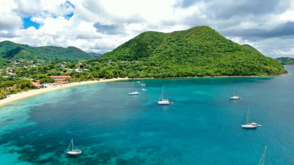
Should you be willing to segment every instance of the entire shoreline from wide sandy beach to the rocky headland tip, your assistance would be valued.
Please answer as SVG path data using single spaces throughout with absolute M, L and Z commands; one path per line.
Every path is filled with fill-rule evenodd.
M 279 76 L 283 76 L 283 75 L 288 75 L 290 74 L 290 72 L 286 72 L 280 75 L 274 75 L 274 76 L 215 76 L 215 77 L 211 77 L 211 76 L 206 76 L 206 77 L 167 77 L 167 78 L 143 78 L 143 79 L 176 79 L 176 78 L 232 78 L 232 77 L 253 77 L 253 78 L 263 78 L 263 77 L 279 77 Z M 9 95 L 9 97 L 0 100 L 0 107 L 4 104 L 7 104 L 9 102 L 13 102 L 16 100 L 21 100 L 27 97 L 31 97 L 34 95 L 39 95 L 45 92 L 49 92 L 52 90 L 58 90 L 58 89 L 63 89 L 61 87 L 74 87 L 74 86 L 78 86 L 78 85 L 86 85 L 86 84 L 93 84 L 93 83 L 107 83 L 107 82 L 115 82 L 115 81 L 122 81 L 122 80 L 129 80 L 132 78 L 112 78 L 112 79 L 102 79 L 102 80 L 91 80 L 91 81 L 81 81 L 81 83 L 79 82 L 74 82 L 74 83 L 68 83 L 68 84 L 64 84 L 64 85 L 57 85 L 57 86 L 50 86 L 50 87 L 46 87 L 46 88 L 42 88 L 42 89 L 34 89 L 34 90 L 28 90 L 27 92 L 22 92 L 22 93 L 17 93 L 17 94 L 12 94 Z M 142 78 L 133 78 L 134 80 L 139 80 Z

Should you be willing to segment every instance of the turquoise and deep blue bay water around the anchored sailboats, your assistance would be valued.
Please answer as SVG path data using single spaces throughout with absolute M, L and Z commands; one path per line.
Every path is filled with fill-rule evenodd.
M 294 66 L 285 66 L 294 73 Z M 81 85 L 0 107 L 0 164 L 294 164 L 294 75 Z M 162 86 L 174 102 L 157 105 Z M 230 100 L 235 87 L 243 99 Z M 247 107 L 250 122 L 242 129 Z M 80 155 L 69 156 L 71 138 Z

